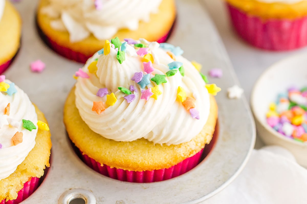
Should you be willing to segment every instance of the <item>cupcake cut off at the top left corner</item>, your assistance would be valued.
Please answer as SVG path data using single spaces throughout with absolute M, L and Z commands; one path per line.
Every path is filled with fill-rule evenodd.
M 10 1 L 0 0 L 0 31 L 0 73 L 2 73 L 9 67 L 20 46 L 21 18 Z

